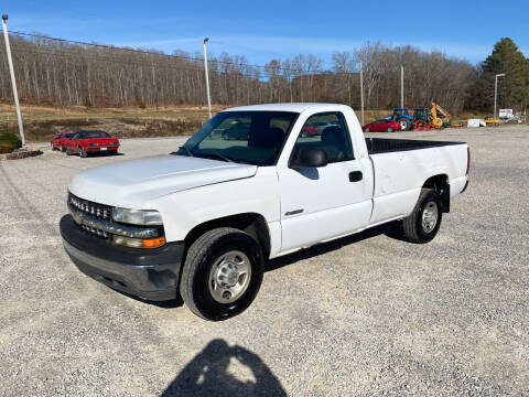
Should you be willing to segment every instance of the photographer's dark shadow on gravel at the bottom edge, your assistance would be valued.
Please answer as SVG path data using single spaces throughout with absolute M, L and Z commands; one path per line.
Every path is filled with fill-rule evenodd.
M 257 354 L 238 345 L 229 346 L 226 341 L 216 339 L 187 363 L 161 394 L 161 397 L 176 396 L 288 395 Z

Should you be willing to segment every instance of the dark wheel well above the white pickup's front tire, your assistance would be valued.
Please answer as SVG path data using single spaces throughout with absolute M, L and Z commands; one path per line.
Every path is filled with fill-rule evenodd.
M 185 246 L 190 247 L 204 233 L 217 227 L 233 227 L 249 234 L 261 246 L 264 258 L 270 256 L 270 233 L 267 221 L 256 213 L 230 215 L 199 224 L 185 236 Z

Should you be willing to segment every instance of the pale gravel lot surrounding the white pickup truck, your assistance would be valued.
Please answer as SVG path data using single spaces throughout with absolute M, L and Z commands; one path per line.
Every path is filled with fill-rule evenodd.
M 471 185 L 438 237 L 378 227 L 279 258 L 250 309 L 220 323 L 85 277 L 58 234 L 76 172 L 181 139 L 1 162 L 0 394 L 529 394 L 529 128 L 400 136 L 471 144 Z

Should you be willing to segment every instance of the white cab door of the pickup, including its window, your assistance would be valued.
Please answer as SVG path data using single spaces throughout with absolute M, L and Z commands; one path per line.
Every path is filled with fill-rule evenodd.
M 371 214 L 371 169 L 365 170 L 353 148 L 342 112 L 311 116 L 325 121 L 317 135 L 300 133 L 289 164 L 301 148 L 321 148 L 328 164 L 321 168 L 278 169 L 281 192 L 281 250 L 349 234 L 365 227 Z M 303 131 L 303 129 L 301 130 Z

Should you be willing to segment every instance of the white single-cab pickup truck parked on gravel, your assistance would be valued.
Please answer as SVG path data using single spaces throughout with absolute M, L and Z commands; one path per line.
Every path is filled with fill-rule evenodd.
M 60 227 L 88 276 L 218 321 L 270 258 L 396 219 L 430 242 L 468 168 L 466 143 L 365 138 L 348 106 L 238 107 L 170 154 L 77 174 Z

